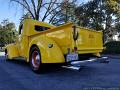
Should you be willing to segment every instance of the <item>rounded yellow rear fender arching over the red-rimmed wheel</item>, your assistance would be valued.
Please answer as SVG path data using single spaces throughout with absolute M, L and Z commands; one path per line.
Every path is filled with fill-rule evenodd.
M 53 47 L 49 48 L 49 44 Z M 32 45 L 37 45 L 41 53 L 42 63 L 64 63 L 64 55 L 54 40 L 42 35 L 31 40 L 29 51 Z

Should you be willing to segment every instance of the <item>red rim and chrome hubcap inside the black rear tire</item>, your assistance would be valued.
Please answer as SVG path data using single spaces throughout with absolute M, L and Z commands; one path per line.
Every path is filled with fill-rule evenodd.
M 37 50 L 32 53 L 32 65 L 34 69 L 38 69 L 40 66 L 40 55 Z

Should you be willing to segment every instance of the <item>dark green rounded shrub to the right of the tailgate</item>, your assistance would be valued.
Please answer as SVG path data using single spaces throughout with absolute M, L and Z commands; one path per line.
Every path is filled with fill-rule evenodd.
M 111 41 L 105 44 L 104 54 L 120 54 L 120 41 Z

